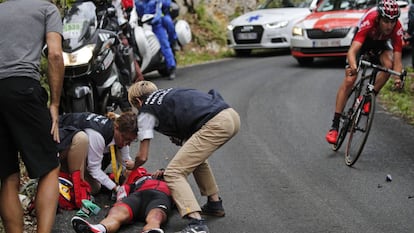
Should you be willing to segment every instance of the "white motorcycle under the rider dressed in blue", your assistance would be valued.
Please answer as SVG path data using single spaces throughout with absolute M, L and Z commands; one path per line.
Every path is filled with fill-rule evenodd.
M 190 43 L 192 35 L 187 21 L 176 19 L 178 11 L 178 5 L 172 3 L 171 17 L 174 20 L 178 43 L 183 47 Z M 161 76 L 168 76 L 170 71 L 167 69 L 165 58 L 161 53 L 160 42 L 151 27 L 151 20 L 154 15 L 145 14 L 138 19 L 136 12 L 132 13 L 135 13 L 135 15 L 130 15 L 129 25 L 133 35 L 135 59 L 138 61 L 142 74 L 158 71 Z

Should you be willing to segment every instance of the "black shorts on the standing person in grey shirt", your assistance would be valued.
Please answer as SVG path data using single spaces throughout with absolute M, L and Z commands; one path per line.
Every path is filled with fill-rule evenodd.
M 18 152 L 30 178 L 59 165 L 47 102 L 46 90 L 35 79 L 0 79 L 0 178 L 19 171 Z

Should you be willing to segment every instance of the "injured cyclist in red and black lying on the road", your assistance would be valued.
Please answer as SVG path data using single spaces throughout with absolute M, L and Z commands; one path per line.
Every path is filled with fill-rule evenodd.
M 75 216 L 73 229 L 77 233 L 112 233 L 123 224 L 145 222 L 142 233 L 163 233 L 161 225 L 167 221 L 172 206 L 171 193 L 162 180 L 164 171 L 150 174 L 144 167 L 131 172 L 126 184 L 118 190 L 117 202 L 99 224 L 90 224 Z

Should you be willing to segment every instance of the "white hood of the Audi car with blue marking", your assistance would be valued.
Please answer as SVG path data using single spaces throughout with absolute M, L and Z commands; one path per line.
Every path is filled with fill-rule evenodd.
M 310 14 L 308 8 L 278 8 L 256 10 L 241 15 L 231 21 L 232 25 L 257 25 L 282 20 L 292 20 Z

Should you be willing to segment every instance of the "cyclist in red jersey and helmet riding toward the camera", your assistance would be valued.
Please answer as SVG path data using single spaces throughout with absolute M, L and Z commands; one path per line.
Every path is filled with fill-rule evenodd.
M 376 59 L 372 62 L 397 72 L 402 71 L 403 28 L 398 21 L 399 16 L 400 8 L 395 0 L 381 0 L 377 7 L 369 10 L 361 18 L 359 29 L 348 50 L 345 78 L 339 86 L 336 95 L 332 126 L 326 134 L 328 143 L 336 144 L 341 114 L 348 94 L 357 79 L 359 55 L 369 53 L 370 57 Z M 374 87 L 375 95 L 378 94 L 389 77 L 389 73 L 378 73 Z M 394 85 L 400 88 L 401 80 L 399 77 L 393 76 L 393 78 Z M 366 104 L 368 105 L 369 103 Z M 364 106 L 364 108 L 369 109 L 368 106 Z

